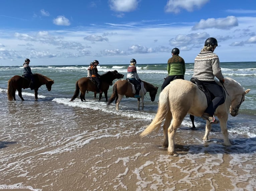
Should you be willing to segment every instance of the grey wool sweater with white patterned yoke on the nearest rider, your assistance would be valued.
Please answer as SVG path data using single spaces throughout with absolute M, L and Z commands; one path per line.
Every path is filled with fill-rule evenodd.
M 214 77 L 223 80 L 219 57 L 212 51 L 200 52 L 195 58 L 193 78 L 201 81 L 214 81 Z

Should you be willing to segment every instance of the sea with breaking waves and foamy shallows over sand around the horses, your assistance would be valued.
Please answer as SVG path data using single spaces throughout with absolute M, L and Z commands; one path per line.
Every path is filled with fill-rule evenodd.
M 127 65 L 102 65 L 99 74 L 117 70 L 126 78 Z M 187 115 L 176 132 L 172 157 L 161 148 L 163 132 L 141 138 L 158 108 L 167 64 L 137 64 L 139 77 L 155 87 L 144 108 L 137 99 L 124 97 L 116 110 L 103 95 L 93 92 L 86 101 L 76 98 L 76 82 L 87 76 L 87 65 L 30 66 L 54 80 L 34 91 L 16 92 L 7 99 L 7 83 L 22 75 L 22 66 L 0 66 L 0 189 L 14 190 L 256 190 L 256 62 L 220 63 L 224 77 L 245 90 L 239 114 L 229 115 L 227 127 L 232 146 L 222 145 L 219 124 L 213 124 L 210 142 L 202 141 L 206 122 L 195 117 L 196 130 Z M 185 80 L 194 63 L 186 64 Z M 113 84 L 117 80 L 113 81 Z M 110 86 L 108 98 L 112 94 Z

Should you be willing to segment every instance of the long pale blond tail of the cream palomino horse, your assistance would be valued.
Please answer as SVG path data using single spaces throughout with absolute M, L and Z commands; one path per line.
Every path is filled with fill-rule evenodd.
M 167 89 L 166 89 L 167 90 Z M 158 109 L 155 118 L 150 123 L 150 125 L 140 134 L 141 137 L 144 137 L 150 134 L 153 130 L 159 130 L 163 120 L 165 119 L 169 107 L 169 93 L 168 91 L 163 90 L 159 95 Z

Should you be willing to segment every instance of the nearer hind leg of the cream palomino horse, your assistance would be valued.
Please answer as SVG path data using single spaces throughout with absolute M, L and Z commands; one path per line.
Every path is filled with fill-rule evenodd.
M 168 154 L 176 156 L 178 155 L 174 147 L 174 135 L 177 128 L 181 125 L 181 122 L 185 115 L 176 114 L 173 116 L 170 126 L 168 127 Z

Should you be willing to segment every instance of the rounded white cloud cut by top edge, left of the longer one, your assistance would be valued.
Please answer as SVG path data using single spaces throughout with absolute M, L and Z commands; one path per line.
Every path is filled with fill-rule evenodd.
M 137 9 L 138 0 L 109 0 L 109 6 L 113 11 L 131 12 Z

